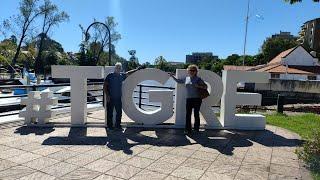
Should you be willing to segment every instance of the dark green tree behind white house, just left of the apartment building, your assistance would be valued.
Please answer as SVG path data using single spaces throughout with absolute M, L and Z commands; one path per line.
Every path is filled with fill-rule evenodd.
M 275 58 L 279 53 L 297 46 L 299 43 L 295 39 L 268 38 L 261 46 L 263 54 L 262 64 L 265 64 Z

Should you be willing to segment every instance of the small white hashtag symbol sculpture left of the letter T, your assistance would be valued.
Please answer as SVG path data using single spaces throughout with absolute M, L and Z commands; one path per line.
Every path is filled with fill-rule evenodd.
M 21 104 L 26 108 L 19 113 L 19 117 L 25 118 L 25 124 L 45 124 L 55 113 L 51 110 L 53 105 L 58 104 L 58 99 L 53 97 L 52 92 L 31 91 L 27 98 L 21 99 Z

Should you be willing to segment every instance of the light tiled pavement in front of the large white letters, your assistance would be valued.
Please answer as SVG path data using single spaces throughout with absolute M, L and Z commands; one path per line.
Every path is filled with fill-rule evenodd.
M 299 137 L 273 126 L 191 136 L 174 129 L 2 128 L 0 179 L 304 178 L 294 153 Z

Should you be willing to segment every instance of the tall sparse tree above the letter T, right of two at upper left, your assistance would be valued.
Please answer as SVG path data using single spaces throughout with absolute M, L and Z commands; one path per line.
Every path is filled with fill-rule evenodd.
M 50 0 L 45 0 L 44 4 L 40 6 L 40 11 L 42 12 L 42 28 L 41 33 L 38 35 L 39 43 L 38 43 L 38 55 L 36 58 L 36 67 L 35 72 L 37 74 L 43 73 L 43 60 L 42 52 L 44 50 L 43 44 L 44 41 L 48 39 L 48 33 L 49 31 L 54 27 L 58 26 L 60 23 L 68 21 L 69 15 L 62 11 L 59 11 L 59 8 L 57 5 L 52 4 Z

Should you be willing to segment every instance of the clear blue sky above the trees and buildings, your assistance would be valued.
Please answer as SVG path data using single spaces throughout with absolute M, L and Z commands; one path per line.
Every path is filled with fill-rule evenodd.
M 70 21 L 51 36 L 66 51 L 77 52 L 82 24 L 93 18 L 114 16 L 122 39 L 117 53 L 129 58 L 137 50 L 140 62 L 160 55 L 168 61 L 185 61 L 191 52 L 213 52 L 225 58 L 242 54 L 247 0 L 52 0 L 68 12 Z M 1 0 L 0 20 L 18 11 L 18 0 Z M 294 35 L 307 20 L 320 17 L 320 4 L 312 0 L 290 5 L 283 0 L 251 0 L 247 53 L 256 54 L 266 37 L 281 31 Z M 263 16 L 262 19 L 255 15 Z

